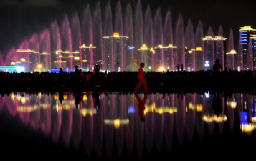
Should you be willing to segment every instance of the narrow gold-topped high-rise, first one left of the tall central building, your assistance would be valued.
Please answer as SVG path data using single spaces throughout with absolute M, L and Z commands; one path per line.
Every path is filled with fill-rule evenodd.
M 84 68 L 85 70 L 93 70 L 93 66 L 95 64 L 94 62 L 94 53 L 96 47 L 94 47 L 92 44 L 87 47 L 85 44 L 83 44 L 81 47 L 81 68 Z

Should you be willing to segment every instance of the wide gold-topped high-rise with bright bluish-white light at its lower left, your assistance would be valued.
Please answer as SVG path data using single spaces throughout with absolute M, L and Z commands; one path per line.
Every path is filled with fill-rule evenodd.
M 205 36 L 205 38 L 203 38 L 205 70 L 211 70 L 216 59 L 219 59 L 219 63 L 224 69 L 225 40 L 226 38 L 221 36 L 215 36 L 214 38 L 212 36 Z

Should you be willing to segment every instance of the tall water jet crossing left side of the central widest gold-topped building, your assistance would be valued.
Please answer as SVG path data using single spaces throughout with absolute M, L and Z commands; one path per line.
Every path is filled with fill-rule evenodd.
M 105 8 L 103 15 L 103 36 L 111 36 L 113 34 L 113 22 L 112 22 L 112 10 L 110 6 L 110 1 L 108 1 L 107 7 Z M 111 41 L 111 40 L 110 40 Z M 110 42 L 112 43 L 112 42 Z M 103 41 L 103 52 L 105 56 L 103 61 L 105 62 L 105 69 L 110 70 L 114 68 L 112 62 L 113 46 L 108 44 L 107 41 Z

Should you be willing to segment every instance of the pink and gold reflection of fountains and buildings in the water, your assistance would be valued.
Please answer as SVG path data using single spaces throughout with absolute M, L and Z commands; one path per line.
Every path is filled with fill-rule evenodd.
M 24 118 L 24 123 L 30 123 L 34 129 L 51 135 L 54 141 L 61 140 L 66 146 L 70 144 L 78 149 L 82 144 L 88 155 L 94 150 L 101 153 L 103 147 L 109 156 L 114 154 L 116 148 L 119 148 L 118 155 L 126 148 L 131 154 L 135 150 L 143 153 L 143 148 L 150 152 L 153 147 L 161 147 L 163 141 L 171 150 L 174 139 L 182 144 L 185 133 L 194 137 L 191 132 L 195 128 L 201 138 L 205 123 L 220 128 L 219 124 L 228 119 L 230 127 L 235 128 L 235 116 L 241 119 L 240 128 L 244 134 L 252 134 L 256 128 L 255 96 L 252 95 L 232 95 L 226 98 L 225 105 L 224 98 L 220 96 L 222 108 L 219 114 L 214 111 L 214 105 L 209 105 L 213 95 L 211 98 L 210 95 L 186 94 L 182 98 L 181 95 L 170 94 L 164 99 L 160 95 L 148 95 L 145 123 L 141 123 L 134 113 L 138 103 L 134 95 L 100 94 L 101 108 L 98 110 L 89 93 L 80 97 L 80 109 L 75 108 L 75 98 L 69 93 L 63 93 L 62 104 L 58 95 L 22 95 L 12 93 L 7 98 L 0 98 L 0 104 L 9 101 L 6 104 L 8 110 L 19 112 L 17 115 Z M 155 130 L 162 132 L 162 135 L 156 135 L 159 132 Z M 114 143 L 117 141 L 121 144 Z

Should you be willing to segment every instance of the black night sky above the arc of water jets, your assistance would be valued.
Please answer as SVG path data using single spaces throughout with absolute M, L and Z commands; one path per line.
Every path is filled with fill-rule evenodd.
M 115 6 L 117 0 L 110 0 Z M 24 38 L 42 31 L 51 21 L 61 20 L 65 13 L 83 10 L 85 4 L 95 4 L 96 0 L 0 0 L 0 52 L 6 54 L 11 47 L 17 47 Z M 101 0 L 101 6 L 107 0 Z M 135 0 L 121 0 L 124 3 L 135 3 Z M 182 13 L 185 26 L 191 19 L 196 28 L 198 20 L 204 25 L 205 34 L 209 26 L 218 33 L 219 25 L 223 26 L 224 36 L 228 37 L 229 29 L 234 31 L 235 41 L 238 42 L 239 26 L 256 28 L 256 1 L 173 1 L 173 0 L 141 0 L 142 7 L 151 5 L 154 11 L 162 7 L 163 11 L 171 10 L 173 27 L 179 13 Z M 236 43 L 235 42 L 235 43 Z

